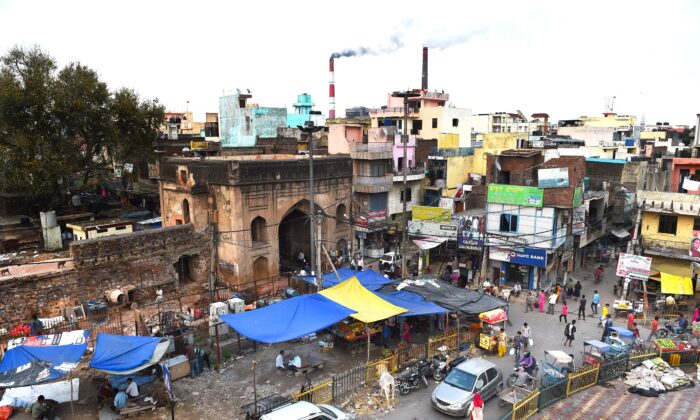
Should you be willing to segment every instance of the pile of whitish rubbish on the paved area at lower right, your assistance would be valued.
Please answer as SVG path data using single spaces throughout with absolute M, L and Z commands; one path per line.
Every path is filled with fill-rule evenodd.
M 628 391 L 647 397 L 695 386 L 685 372 L 672 368 L 660 357 L 643 361 L 625 375 Z

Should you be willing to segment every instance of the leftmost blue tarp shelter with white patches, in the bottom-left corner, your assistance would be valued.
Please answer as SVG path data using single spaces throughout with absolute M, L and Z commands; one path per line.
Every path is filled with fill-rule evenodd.
M 53 381 L 74 369 L 87 349 L 88 330 L 10 340 L 0 362 L 0 388 Z

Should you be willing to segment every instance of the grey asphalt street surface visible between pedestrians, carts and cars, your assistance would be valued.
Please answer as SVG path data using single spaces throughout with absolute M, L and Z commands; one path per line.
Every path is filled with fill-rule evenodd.
M 593 268 L 590 269 L 593 271 Z M 587 274 L 591 276 L 591 274 Z M 604 281 L 599 284 L 593 284 L 592 280 L 584 279 L 576 273 L 573 275 L 574 279 L 580 279 L 583 286 L 582 294 L 585 294 L 588 301 L 590 302 L 590 297 L 593 295 L 593 289 L 597 289 L 601 294 L 601 304 L 606 302 L 612 305 L 613 295 L 613 281 L 617 279 L 615 276 L 613 264 L 609 264 L 606 268 L 606 275 Z M 576 313 L 578 309 L 578 303 L 570 301 L 570 312 Z M 512 321 L 512 326 L 506 327 L 506 332 L 509 336 L 515 334 L 515 332 L 522 327 L 524 322 L 527 322 L 532 329 L 532 335 L 535 341 L 535 346 L 532 348 L 532 354 L 541 360 L 544 357 L 544 350 L 567 350 L 569 353 L 574 354 L 576 363 L 581 361 L 581 352 L 583 350 L 583 341 L 587 339 L 600 339 L 602 334 L 602 328 L 598 327 L 598 321 L 596 319 L 587 318 L 586 321 L 577 321 L 577 333 L 576 339 L 574 341 L 573 347 L 566 349 L 563 347 L 564 344 L 564 323 L 559 323 L 559 313 L 561 311 L 561 304 L 557 305 L 556 315 L 546 315 L 546 313 L 539 312 L 528 312 L 524 313 L 524 299 L 511 299 L 510 307 L 510 318 Z M 590 314 L 590 307 L 586 311 Z M 571 317 L 569 318 L 571 319 Z M 625 323 L 623 318 L 616 320 L 615 324 L 623 326 Z M 640 327 L 640 332 L 642 337 L 648 335 L 648 330 Z M 496 363 L 502 370 L 504 376 L 510 374 L 513 367 L 513 357 L 506 355 L 503 358 L 498 358 L 494 356 L 487 356 L 488 360 Z M 430 388 L 421 389 L 420 391 L 413 392 L 405 397 L 397 396 L 399 399 L 397 403 L 397 408 L 395 411 L 390 412 L 384 416 L 386 419 L 447 419 L 449 416 L 443 415 L 436 410 L 434 410 L 430 405 L 430 395 L 432 390 L 435 388 L 435 383 L 431 383 Z M 506 410 L 498 407 L 498 400 L 491 399 L 486 403 L 484 410 L 484 418 L 487 420 L 498 419 L 500 415 L 505 414 Z

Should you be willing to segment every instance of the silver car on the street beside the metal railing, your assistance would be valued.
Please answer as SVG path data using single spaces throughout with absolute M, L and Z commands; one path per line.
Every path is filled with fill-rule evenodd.
M 503 390 L 503 374 L 496 365 L 484 359 L 469 359 L 452 369 L 444 381 L 435 388 L 431 398 L 438 411 L 456 417 L 464 417 L 467 407 L 479 391 L 486 401 Z

